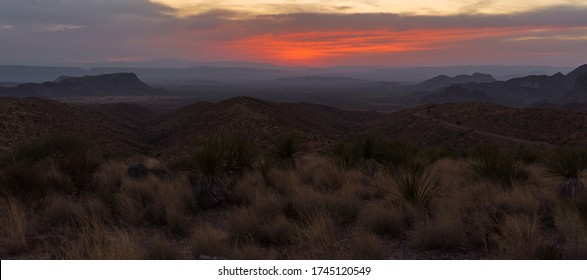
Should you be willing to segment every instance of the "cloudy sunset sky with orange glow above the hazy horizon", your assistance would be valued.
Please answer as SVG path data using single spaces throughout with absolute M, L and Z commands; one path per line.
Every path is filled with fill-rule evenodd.
M 587 63 L 580 0 L 0 0 L 0 64 Z

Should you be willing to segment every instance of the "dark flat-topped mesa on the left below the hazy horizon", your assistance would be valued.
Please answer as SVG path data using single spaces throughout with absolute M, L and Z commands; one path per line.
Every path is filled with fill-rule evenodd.
M 55 82 L 27 83 L 15 88 L 0 89 L 0 96 L 16 97 L 79 97 L 128 96 L 164 93 L 143 83 L 134 73 L 116 73 L 99 76 L 60 77 Z

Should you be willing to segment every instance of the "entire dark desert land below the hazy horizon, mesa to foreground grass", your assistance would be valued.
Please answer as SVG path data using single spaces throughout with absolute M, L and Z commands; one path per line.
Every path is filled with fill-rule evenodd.
M 198 83 L 5 83 L 2 258 L 587 257 L 586 65 Z

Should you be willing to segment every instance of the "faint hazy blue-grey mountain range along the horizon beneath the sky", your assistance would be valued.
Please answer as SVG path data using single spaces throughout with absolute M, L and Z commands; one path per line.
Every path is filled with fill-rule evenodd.
M 338 66 L 326 68 L 282 67 L 255 62 L 194 62 L 165 59 L 142 62 L 86 63 L 77 67 L 46 67 L 0 65 L 0 82 L 39 83 L 53 81 L 59 76 L 81 77 L 117 72 L 133 72 L 151 85 L 193 85 L 202 80 L 214 81 L 268 81 L 279 78 L 324 76 L 363 79 L 369 81 L 418 84 L 438 75 L 456 76 L 467 73 L 486 73 L 498 80 L 528 75 L 568 73 L 570 67 L 548 66 L 445 66 L 445 67 L 389 67 Z

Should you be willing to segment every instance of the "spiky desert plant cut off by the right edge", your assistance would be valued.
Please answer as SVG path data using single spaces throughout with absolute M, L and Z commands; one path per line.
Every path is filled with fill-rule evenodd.
M 558 194 L 564 198 L 585 190 L 581 179 L 587 170 L 587 152 L 577 148 L 561 148 L 543 160 L 545 175 L 559 183 Z

